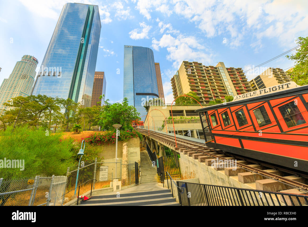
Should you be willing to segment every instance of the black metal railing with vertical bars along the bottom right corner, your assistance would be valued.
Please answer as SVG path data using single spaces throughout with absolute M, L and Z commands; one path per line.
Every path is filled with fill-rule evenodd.
M 177 181 L 176 184 L 182 206 L 302 206 L 308 204 L 308 195 L 182 181 Z

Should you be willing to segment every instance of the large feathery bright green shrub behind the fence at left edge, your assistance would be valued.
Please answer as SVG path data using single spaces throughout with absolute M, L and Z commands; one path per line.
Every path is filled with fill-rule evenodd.
M 0 159 L 24 160 L 24 170 L 1 168 L 0 177 L 65 175 L 67 166 L 73 160 L 73 141 L 61 138 L 62 133 L 46 132 L 43 128 L 31 130 L 17 127 L 12 133 L 12 127 L 8 127 L 0 134 Z

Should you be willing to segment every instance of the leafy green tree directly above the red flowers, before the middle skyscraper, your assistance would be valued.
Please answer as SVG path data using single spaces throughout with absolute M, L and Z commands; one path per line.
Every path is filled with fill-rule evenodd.
M 128 99 L 124 98 L 122 103 L 109 103 L 105 101 L 103 110 L 99 116 L 99 125 L 103 130 L 113 129 L 113 124 L 121 124 L 122 127 L 131 125 L 133 120 L 140 120 L 139 113 L 134 106 L 128 105 Z

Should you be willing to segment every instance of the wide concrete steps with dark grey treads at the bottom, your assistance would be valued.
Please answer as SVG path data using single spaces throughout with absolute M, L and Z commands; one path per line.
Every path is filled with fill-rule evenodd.
M 157 183 L 137 185 L 122 191 L 93 195 L 78 206 L 179 206 L 170 189 Z

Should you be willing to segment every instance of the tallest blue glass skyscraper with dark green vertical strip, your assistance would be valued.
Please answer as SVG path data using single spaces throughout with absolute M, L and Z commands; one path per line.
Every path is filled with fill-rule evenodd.
M 90 107 L 100 30 L 98 6 L 66 3 L 32 95 L 70 98 Z

